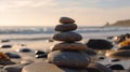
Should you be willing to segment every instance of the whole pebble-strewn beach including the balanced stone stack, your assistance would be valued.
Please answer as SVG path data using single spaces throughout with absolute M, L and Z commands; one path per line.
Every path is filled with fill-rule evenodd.
M 123 41 L 84 39 L 77 29 L 76 20 L 61 17 L 51 39 L 1 42 L 10 60 L 1 58 L 0 72 L 130 72 L 130 48 L 118 49 Z

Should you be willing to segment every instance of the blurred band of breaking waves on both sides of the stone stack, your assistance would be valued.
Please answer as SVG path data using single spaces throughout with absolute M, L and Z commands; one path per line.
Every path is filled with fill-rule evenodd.
M 79 27 L 76 32 L 114 32 L 114 31 L 130 31 L 126 27 Z M 53 27 L 1 27 L 0 34 L 37 34 L 37 33 L 54 33 Z

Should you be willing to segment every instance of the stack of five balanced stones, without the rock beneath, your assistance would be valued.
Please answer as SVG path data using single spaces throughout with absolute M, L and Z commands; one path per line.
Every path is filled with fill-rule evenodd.
M 79 43 L 82 37 L 74 32 L 77 29 L 75 20 L 69 17 L 61 17 L 61 25 L 55 27 L 56 33 L 53 40 L 60 41 L 52 47 L 48 55 L 48 61 L 62 68 L 83 69 L 90 63 L 90 57 L 80 51 L 86 51 L 87 46 Z M 84 72 L 88 72 L 84 70 Z

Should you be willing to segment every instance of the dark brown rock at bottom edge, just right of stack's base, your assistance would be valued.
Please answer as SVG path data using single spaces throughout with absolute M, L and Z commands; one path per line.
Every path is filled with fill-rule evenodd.
M 101 63 L 89 63 L 87 66 L 88 72 L 113 72 L 112 69 L 101 64 Z

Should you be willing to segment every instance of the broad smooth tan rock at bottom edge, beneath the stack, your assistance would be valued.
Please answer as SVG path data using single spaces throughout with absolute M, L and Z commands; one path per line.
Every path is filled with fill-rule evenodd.
M 58 68 L 47 62 L 36 62 L 23 68 L 22 72 L 88 72 L 86 69 Z

